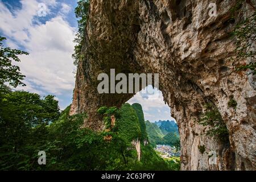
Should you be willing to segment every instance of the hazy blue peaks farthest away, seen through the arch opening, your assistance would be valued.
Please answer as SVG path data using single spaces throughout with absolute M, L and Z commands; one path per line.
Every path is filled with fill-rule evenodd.
M 174 121 L 155 121 L 155 125 L 159 127 L 159 129 L 162 131 L 164 135 L 167 135 L 168 133 L 176 133 L 179 135 L 179 129 L 177 127 L 177 124 Z

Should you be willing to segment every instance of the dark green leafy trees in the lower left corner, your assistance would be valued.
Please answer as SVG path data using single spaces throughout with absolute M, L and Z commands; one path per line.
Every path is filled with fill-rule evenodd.
M 45 141 L 47 125 L 59 117 L 53 96 L 9 92 L 0 98 L 0 168 L 32 169 L 37 152 L 57 150 L 56 141 Z M 49 156 L 49 162 L 54 159 Z M 50 164 L 49 164 L 50 165 Z

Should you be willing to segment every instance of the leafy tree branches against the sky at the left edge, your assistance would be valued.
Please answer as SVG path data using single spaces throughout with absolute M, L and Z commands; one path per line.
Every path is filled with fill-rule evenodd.
M 3 47 L 2 41 L 5 39 L 6 38 L 0 36 L 0 92 L 9 90 L 5 85 L 6 83 L 13 87 L 25 85 L 22 82 L 25 76 L 20 73 L 20 69 L 17 65 L 12 64 L 12 61 L 19 62 L 20 59 L 18 55 L 28 55 L 28 53 L 24 51 Z

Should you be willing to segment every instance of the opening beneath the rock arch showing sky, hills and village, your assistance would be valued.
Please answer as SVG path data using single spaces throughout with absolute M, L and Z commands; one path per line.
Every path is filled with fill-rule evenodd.
M 147 138 L 154 150 L 167 160 L 180 163 L 180 136 L 171 108 L 164 102 L 163 93 L 152 85 L 137 92 L 126 103 L 141 106 Z

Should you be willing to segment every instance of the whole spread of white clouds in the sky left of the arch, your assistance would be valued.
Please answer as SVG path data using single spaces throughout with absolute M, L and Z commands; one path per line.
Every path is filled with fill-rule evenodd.
M 22 61 L 18 63 L 20 71 L 26 75 L 27 86 L 22 89 L 39 94 L 61 94 L 68 90 L 72 96 L 75 67 L 71 55 L 75 46 L 75 28 L 69 26 L 63 14 L 44 24 L 38 22 L 38 3 L 51 7 L 56 6 L 55 0 L 20 2 L 22 9 L 12 14 L 0 1 L 0 31 L 15 40 L 9 42 L 8 39 L 8 46 L 14 47 L 18 43 L 30 53 L 20 56 Z M 68 11 L 67 6 L 61 7 Z

